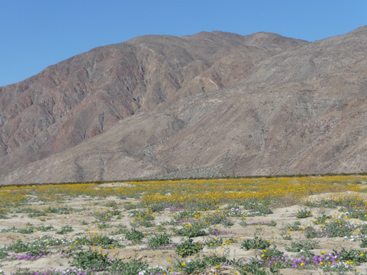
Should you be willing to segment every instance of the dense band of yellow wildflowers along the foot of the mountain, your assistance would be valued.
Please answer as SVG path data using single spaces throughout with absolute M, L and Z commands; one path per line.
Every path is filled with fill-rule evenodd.
M 367 176 L 277 177 L 251 179 L 200 179 L 182 181 L 134 181 L 124 184 L 54 184 L 0 187 L 0 214 L 21 206 L 32 197 L 59 202 L 73 197 L 141 197 L 147 208 L 196 206 L 211 210 L 223 203 L 258 201 L 273 206 L 297 203 L 324 192 L 364 191 Z M 359 203 L 359 199 L 357 202 Z

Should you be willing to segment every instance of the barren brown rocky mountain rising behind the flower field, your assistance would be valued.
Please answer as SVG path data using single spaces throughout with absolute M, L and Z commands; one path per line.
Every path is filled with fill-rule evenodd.
M 0 183 L 367 171 L 367 26 L 140 36 L 0 87 Z

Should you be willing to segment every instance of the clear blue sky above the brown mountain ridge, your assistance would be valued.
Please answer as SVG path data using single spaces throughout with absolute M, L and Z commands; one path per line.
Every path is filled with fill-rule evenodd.
M 0 0 L 0 86 L 144 34 L 275 32 L 316 41 L 367 25 L 367 0 Z

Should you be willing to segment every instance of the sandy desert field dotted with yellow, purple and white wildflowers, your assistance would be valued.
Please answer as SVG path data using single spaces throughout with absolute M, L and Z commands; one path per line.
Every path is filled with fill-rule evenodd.
M 367 176 L 0 187 L 0 274 L 367 274 Z

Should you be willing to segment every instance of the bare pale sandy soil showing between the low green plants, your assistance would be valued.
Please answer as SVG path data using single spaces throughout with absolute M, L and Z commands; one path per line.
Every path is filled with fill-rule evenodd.
M 323 197 L 327 196 L 322 195 Z M 312 196 L 310 199 L 318 199 L 319 197 Z M 106 209 L 104 206 L 107 201 L 116 201 L 118 204 L 118 210 L 121 211 L 121 219 L 112 219 L 112 221 L 108 222 L 110 225 L 112 225 L 112 228 L 106 228 L 103 230 L 100 230 L 97 228 L 96 223 L 93 223 L 94 217 L 92 217 L 93 212 L 96 210 L 103 211 Z M 133 245 L 131 242 L 125 240 L 124 234 L 117 234 L 112 235 L 110 234 L 112 231 L 117 230 L 118 225 L 126 225 L 127 228 L 130 228 L 130 222 L 132 221 L 129 218 L 129 214 L 127 210 L 123 210 L 123 207 L 126 202 L 135 202 L 134 199 L 116 199 L 116 197 L 109 197 L 105 200 L 97 200 L 97 199 L 73 199 L 72 201 L 65 201 L 61 204 L 51 203 L 51 204 L 43 204 L 38 201 L 31 202 L 28 206 L 24 206 L 27 208 L 37 208 L 39 210 L 43 210 L 48 206 L 53 206 L 55 208 L 57 207 L 70 207 L 76 210 L 75 212 L 72 212 L 72 214 L 48 214 L 45 216 L 45 221 L 41 221 L 40 217 L 28 217 L 28 214 L 25 213 L 14 213 L 14 214 L 8 214 L 8 217 L 11 217 L 10 219 L 0 219 L 0 230 L 7 229 L 7 228 L 29 228 L 29 225 L 27 223 L 31 223 L 34 228 L 41 226 L 41 225 L 52 225 L 55 230 L 60 230 L 62 226 L 64 225 L 72 225 L 72 228 L 74 229 L 73 232 L 69 232 L 67 234 L 61 235 L 56 234 L 56 231 L 48 231 L 48 232 L 34 232 L 32 234 L 20 234 L 17 232 L 0 232 L 0 247 L 10 245 L 14 243 L 17 239 L 21 239 L 23 241 L 34 241 L 38 238 L 41 238 L 42 236 L 48 235 L 48 236 L 54 236 L 55 238 L 65 238 L 65 239 L 72 239 L 73 236 L 83 236 L 83 234 L 91 234 L 90 232 L 99 232 L 103 235 L 109 235 L 112 236 L 114 239 L 120 240 L 121 243 L 125 243 L 125 248 L 117 248 L 116 250 L 105 250 L 106 252 L 109 252 L 110 254 L 118 254 L 118 258 L 123 259 L 125 261 L 131 260 L 131 259 L 141 259 L 143 261 L 147 261 L 149 263 L 149 266 L 156 266 L 160 265 L 162 267 L 169 267 L 171 266 L 171 263 L 167 261 L 167 259 L 171 258 L 172 263 L 176 261 L 175 259 L 179 259 L 179 261 L 188 261 L 189 259 L 193 257 L 189 257 L 187 259 L 181 259 L 174 250 L 139 250 L 134 248 L 144 248 L 147 246 L 146 243 L 141 243 L 139 245 Z M 242 260 L 242 261 L 249 261 L 251 257 L 256 256 L 258 254 L 258 251 L 255 250 L 248 250 L 244 251 L 240 248 L 241 242 L 244 239 L 252 239 L 254 236 L 254 233 L 258 236 L 261 236 L 263 239 L 270 240 L 272 245 L 276 245 L 277 249 L 281 251 L 285 251 L 284 247 L 286 245 L 290 245 L 291 241 L 283 239 L 282 235 L 282 227 L 289 223 L 294 223 L 295 221 L 300 221 L 302 225 L 311 225 L 312 219 L 315 219 L 317 214 L 320 214 L 322 210 L 318 208 L 313 208 L 313 217 L 308 217 L 307 219 L 297 219 L 295 217 L 295 213 L 305 208 L 304 206 L 289 206 L 284 208 L 273 208 L 273 214 L 268 214 L 266 216 L 259 216 L 259 217 L 247 217 L 246 221 L 247 223 L 262 223 L 262 222 L 269 222 L 269 221 L 276 221 L 277 225 L 275 227 L 271 227 L 268 225 L 262 225 L 261 229 L 258 225 L 248 225 L 247 227 L 242 227 L 240 225 L 240 218 L 231 218 L 233 221 L 235 221 L 235 224 L 231 226 L 231 228 L 224 228 L 224 226 L 220 225 L 219 228 L 222 230 L 228 230 L 230 231 L 227 234 L 221 234 L 222 238 L 224 240 L 227 240 L 229 238 L 233 238 L 238 241 L 238 243 L 233 243 L 232 245 L 229 245 L 229 251 L 227 251 L 227 258 L 228 259 L 236 259 L 236 260 Z M 110 208 L 111 209 L 111 208 Z M 337 211 L 337 209 L 326 209 L 326 214 L 340 214 L 340 212 Z M 176 214 L 175 211 L 169 211 L 165 210 L 163 212 L 160 212 L 157 214 L 157 217 L 154 221 L 154 223 L 162 223 L 164 221 L 170 221 L 173 214 Z M 82 222 L 85 221 L 88 224 L 83 225 Z M 350 219 L 351 222 L 354 222 L 353 219 Z M 365 223 L 363 221 L 355 220 L 357 223 Z M 255 227 L 256 226 L 256 227 Z M 165 225 L 165 228 L 167 228 L 167 232 L 170 232 L 171 225 Z M 138 228 L 139 231 L 147 233 L 147 236 L 149 236 L 149 233 L 155 232 L 156 228 Z M 293 241 L 297 241 L 300 239 L 305 239 L 304 232 L 291 232 L 291 236 L 293 238 Z M 211 236 L 213 237 L 213 236 Z M 194 241 L 200 241 L 202 239 L 208 239 L 209 236 L 200 236 L 193 238 Z M 241 241 L 239 239 L 241 238 Z M 144 240 L 147 240 L 145 238 Z M 172 236 L 171 240 L 174 243 L 178 243 L 182 241 L 182 236 Z M 340 250 L 342 247 L 346 249 L 357 249 L 361 250 L 359 247 L 358 241 L 348 241 L 342 237 L 338 238 L 317 238 L 313 239 L 319 243 L 319 248 L 313 250 L 315 254 L 319 254 L 321 251 L 333 252 L 333 250 Z M 218 248 L 218 250 L 220 250 Z M 209 254 L 209 248 L 204 248 L 201 252 L 202 254 Z M 221 252 L 222 253 L 222 252 Z M 293 252 L 286 252 L 287 254 L 295 254 Z M 3 270 L 5 274 L 10 274 L 10 272 L 15 272 L 18 268 L 29 268 L 30 270 L 47 270 L 50 267 L 53 267 L 55 269 L 65 270 L 68 267 L 72 267 L 70 263 L 68 263 L 70 259 L 67 259 L 63 256 L 61 256 L 61 253 L 56 252 L 56 250 L 52 250 L 52 254 L 49 256 L 45 256 L 41 259 L 36 259 L 34 261 L 25 261 L 25 260 L 15 260 L 15 261 L 5 261 L 0 260 L 0 270 Z M 358 267 L 359 272 L 366 272 L 367 265 L 361 265 Z M 221 268 L 222 274 L 234 274 L 233 270 L 231 268 L 222 267 Z M 207 272 L 207 274 L 212 274 L 210 270 Z M 291 269 L 284 269 L 281 270 L 281 274 L 284 275 L 297 275 L 297 274 L 323 274 L 320 270 L 291 270 Z

